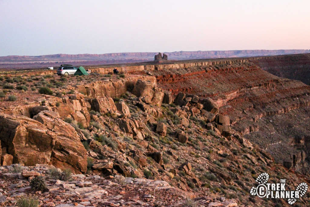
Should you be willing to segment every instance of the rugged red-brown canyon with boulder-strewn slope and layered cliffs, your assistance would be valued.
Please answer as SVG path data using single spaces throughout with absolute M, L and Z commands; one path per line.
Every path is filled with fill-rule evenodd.
M 78 77 L 47 70 L 2 72 L 2 165 L 42 164 L 37 169 L 44 174 L 48 164 L 86 173 L 83 179 L 94 183 L 98 175 L 105 183 L 124 176 L 124 182 L 113 180 L 120 188 L 155 180 L 177 189 L 173 197 L 184 192 L 209 206 L 288 206 L 284 199 L 252 196 L 250 189 L 263 172 L 272 182 L 287 179 L 289 190 L 310 181 L 310 86 L 299 81 L 308 57 L 86 66 L 92 74 Z M 114 68 L 122 76 L 113 75 Z M 282 69 L 281 77 L 272 74 Z M 285 77 L 290 70 L 299 73 L 297 80 Z M 51 94 L 40 93 L 43 86 Z M 9 95 L 17 100 L 8 101 Z M 73 189 L 60 186 L 57 195 L 62 191 Z M 296 202 L 307 205 L 309 192 Z

